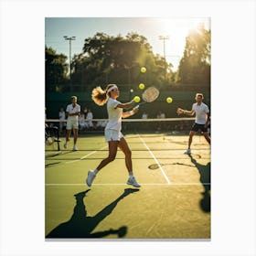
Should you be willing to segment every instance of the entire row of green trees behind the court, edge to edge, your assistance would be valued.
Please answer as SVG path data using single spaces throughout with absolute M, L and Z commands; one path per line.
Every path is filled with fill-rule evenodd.
M 46 48 L 46 90 L 69 91 L 67 57 Z M 140 69 L 146 67 L 142 73 Z M 210 84 L 210 30 L 200 27 L 187 35 L 186 48 L 179 67 L 154 54 L 146 37 L 128 33 L 111 37 L 96 33 L 84 39 L 82 52 L 71 62 L 71 80 L 75 91 L 91 91 L 91 87 L 117 83 L 126 91 L 146 86 L 168 90 L 172 84 Z

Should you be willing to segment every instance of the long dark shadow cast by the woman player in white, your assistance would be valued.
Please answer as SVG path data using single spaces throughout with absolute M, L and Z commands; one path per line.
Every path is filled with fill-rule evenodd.
M 83 202 L 83 198 L 91 189 L 82 191 L 74 197 L 76 197 L 76 206 L 74 212 L 69 221 L 59 224 L 55 229 L 52 229 L 46 238 L 102 238 L 110 234 L 117 234 L 118 238 L 123 238 L 127 233 L 127 227 L 122 226 L 119 229 L 108 229 L 100 232 L 92 233 L 101 220 L 108 217 L 112 210 L 116 207 L 119 201 L 130 194 L 139 191 L 138 188 L 125 188 L 123 194 L 117 197 L 111 204 L 101 209 L 95 216 L 87 216 L 86 207 Z

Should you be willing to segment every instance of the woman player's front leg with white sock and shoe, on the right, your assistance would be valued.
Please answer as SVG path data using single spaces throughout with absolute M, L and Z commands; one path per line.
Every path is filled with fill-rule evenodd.
M 120 143 L 118 144 L 118 146 L 123 151 L 123 154 L 125 155 L 125 165 L 129 172 L 129 178 L 127 180 L 127 184 L 132 185 L 133 187 L 141 187 L 137 183 L 135 177 L 133 176 L 132 151 L 123 137 L 120 139 Z

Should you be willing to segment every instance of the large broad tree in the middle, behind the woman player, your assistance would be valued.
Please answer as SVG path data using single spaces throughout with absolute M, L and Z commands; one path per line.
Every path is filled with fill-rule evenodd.
M 132 84 L 146 82 L 161 86 L 168 64 L 155 56 L 144 36 L 128 33 L 126 37 L 110 37 L 97 33 L 84 40 L 82 53 L 73 59 L 72 80 L 82 84 Z M 146 74 L 140 72 L 147 67 Z

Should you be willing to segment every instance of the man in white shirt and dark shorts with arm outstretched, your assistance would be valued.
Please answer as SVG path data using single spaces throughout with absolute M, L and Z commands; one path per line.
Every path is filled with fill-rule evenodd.
M 208 105 L 203 102 L 204 95 L 202 93 L 196 94 L 196 103 L 192 105 L 192 110 L 187 111 L 183 110 L 181 108 L 177 108 L 176 113 L 179 115 L 181 113 L 187 114 L 187 115 L 194 115 L 196 113 L 196 122 L 192 125 L 190 133 L 189 133 L 189 139 L 188 139 L 188 147 L 184 154 L 190 155 L 191 149 L 190 145 L 192 144 L 193 136 L 197 133 L 198 130 L 200 130 L 206 140 L 208 141 L 208 144 L 210 144 L 210 138 L 208 137 L 208 123 L 209 123 L 209 110 Z

